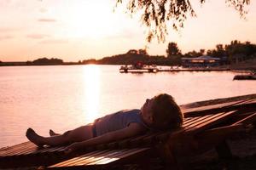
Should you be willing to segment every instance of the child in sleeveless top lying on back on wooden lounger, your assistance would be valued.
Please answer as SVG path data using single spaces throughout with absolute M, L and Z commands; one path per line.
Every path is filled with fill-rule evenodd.
M 94 123 L 67 131 L 61 135 L 50 130 L 50 137 L 42 137 L 32 128 L 26 137 L 38 146 L 70 144 L 66 153 L 83 147 L 125 139 L 148 130 L 166 130 L 181 127 L 183 114 L 169 94 L 147 99 L 141 110 L 119 111 L 96 119 Z

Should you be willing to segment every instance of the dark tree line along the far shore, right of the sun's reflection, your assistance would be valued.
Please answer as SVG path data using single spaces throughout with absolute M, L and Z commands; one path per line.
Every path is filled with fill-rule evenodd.
M 182 58 L 196 58 L 202 55 L 220 58 L 224 64 L 255 58 L 256 44 L 231 41 L 230 44 L 217 44 L 213 49 L 200 49 L 183 54 L 176 42 L 169 42 L 165 55 L 148 55 L 146 49 L 131 49 L 126 54 L 117 54 L 102 59 L 84 59 L 82 64 L 134 65 L 138 61 L 145 65 L 181 65 Z

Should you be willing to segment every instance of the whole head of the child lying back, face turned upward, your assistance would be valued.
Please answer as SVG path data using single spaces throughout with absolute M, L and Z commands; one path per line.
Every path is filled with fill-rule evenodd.
M 142 107 L 143 120 L 155 129 L 175 129 L 183 124 L 183 114 L 169 94 L 147 99 Z

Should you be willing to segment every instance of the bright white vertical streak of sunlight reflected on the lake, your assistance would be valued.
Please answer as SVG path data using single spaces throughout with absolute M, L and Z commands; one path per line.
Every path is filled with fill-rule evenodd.
M 86 122 L 93 122 L 99 114 L 101 71 L 98 65 L 84 66 L 84 96 Z

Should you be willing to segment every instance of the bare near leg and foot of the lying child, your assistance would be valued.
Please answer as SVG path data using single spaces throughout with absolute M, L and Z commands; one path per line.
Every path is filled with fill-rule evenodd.
M 32 130 L 32 128 L 27 129 L 26 137 L 32 143 L 42 146 L 47 145 L 61 145 L 61 144 L 70 144 L 73 142 L 80 142 L 90 138 L 93 138 L 92 126 L 86 125 L 82 127 L 75 128 L 73 130 L 67 131 L 61 135 L 51 136 L 51 137 L 42 137 Z

